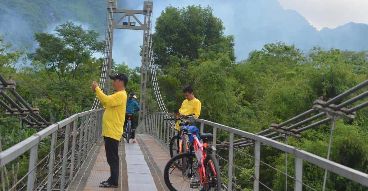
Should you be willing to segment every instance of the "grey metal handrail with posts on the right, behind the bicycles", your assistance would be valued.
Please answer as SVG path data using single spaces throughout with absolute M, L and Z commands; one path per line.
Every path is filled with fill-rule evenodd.
M 150 134 L 153 137 L 157 138 L 158 140 L 162 141 L 164 144 L 169 145 L 169 140 L 171 139 L 172 136 L 174 136 L 174 125 L 169 125 L 167 121 L 163 120 L 164 118 L 167 118 L 169 115 L 172 116 L 172 114 L 163 113 L 163 112 L 151 113 L 149 115 L 146 115 L 145 118 L 143 118 L 141 122 L 138 124 L 136 128 L 137 133 Z M 306 184 L 302 182 L 303 161 L 312 163 L 318 167 L 321 167 L 335 174 L 339 174 L 340 176 L 343 176 L 346 179 L 352 180 L 364 186 L 368 186 L 368 174 L 352 169 L 350 167 L 341 165 L 339 163 L 330 161 L 328 159 L 322 158 L 321 156 L 317 156 L 310 152 L 303 151 L 299 148 L 281 143 L 271 138 L 260 136 L 254 133 L 249 133 L 247 131 L 243 131 L 243 130 L 229 127 L 226 125 L 222 125 L 222 124 L 212 122 L 209 120 L 197 119 L 197 123 L 200 124 L 199 129 L 200 129 L 200 132 L 202 133 L 204 132 L 204 124 L 212 126 L 212 133 L 213 133 L 212 142 L 213 143 L 216 143 L 217 129 L 227 131 L 230 135 L 229 136 L 230 138 L 229 147 L 228 147 L 229 160 L 227 161 L 227 163 L 229 164 L 229 170 L 227 174 L 227 180 L 228 180 L 229 186 L 227 187 L 227 190 L 233 189 L 232 169 L 233 167 L 236 167 L 236 166 L 233 166 L 234 150 L 236 149 L 233 146 L 234 145 L 234 135 L 238 135 L 238 136 L 254 141 L 254 145 L 255 145 L 254 160 L 258 161 L 258 163 L 255 162 L 255 167 L 254 167 L 254 190 L 258 190 L 258 187 L 259 187 L 259 175 L 260 175 L 259 174 L 259 161 L 260 161 L 260 152 L 261 152 L 260 145 L 261 144 L 268 145 L 272 148 L 276 148 L 280 151 L 283 151 L 283 152 L 286 152 L 288 154 L 292 154 L 295 156 L 295 172 L 294 172 L 295 175 L 293 177 L 294 190 L 301 190 L 303 186 L 306 186 Z M 258 178 L 255 178 L 255 177 L 258 177 Z M 237 185 L 235 186 L 237 187 Z

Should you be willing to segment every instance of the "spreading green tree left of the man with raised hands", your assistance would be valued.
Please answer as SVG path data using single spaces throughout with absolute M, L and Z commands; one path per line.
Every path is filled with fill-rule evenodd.
M 98 80 L 102 60 L 93 54 L 103 51 L 104 42 L 94 30 L 83 30 L 72 22 L 57 26 L 55 31 L 35 33 L 39 47 L 28 54 L 33 67 L 25 68 L 24 78 L 31 78 L 35 94 L 43 98 L 40 104 L 68 117 L 87 109 L 94 98 L 89 86 Z

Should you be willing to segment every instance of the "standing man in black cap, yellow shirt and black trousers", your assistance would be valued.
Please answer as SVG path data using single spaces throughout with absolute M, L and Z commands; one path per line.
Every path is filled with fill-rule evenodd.
M 124 73 L 110 75 L 116 93 L 105 95 L 98 87 L 97 82 L 93 82 L 91 89 L 95 90 L 97 98 L 105 108 L 102 118 L 102 136 L 105 141 L 106 160 L 110 166 L 110 177 L 102 181 L 99 187 L 116 188 L 119 183 L 119 155 L 118 146 L 125 119 L 125 108 L 127 105 L 127 92 L 125 87 L 128 83 L 128 76 Z

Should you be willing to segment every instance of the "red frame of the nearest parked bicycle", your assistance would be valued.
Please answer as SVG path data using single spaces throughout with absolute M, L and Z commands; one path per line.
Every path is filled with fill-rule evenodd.
M 193 136 L 193 144 L 192 144 L 192 147 L 190 149 L 191 150 L 190 152 L 192 152 L 193 147 L 194 147 L 195 152 L 197 152 L 198 150 L 202 151 L 201 161 L 198 162 L 198 159 L 196 159 L 196 161 L 197 161 L 197 166 L 198 166 L 199 180 L 200 180 L 200 183 L 202 184 L 202 187 L 203 187 L 207 183 L 206 176 L 205 176 L 206 169 L 205 169 L 205 165 L 204 165 L 204 161 L 205 161 L 205 158 L 207 156 L 206 155 L 206 149 L 203 149 L 203 144 L 201 144 L 201 142 L 199 142 L 199 139 L 197 138 L 195 133 L 193 133 L 192 136 Z M 216 170 L 213 167 L 212 162 L 209 161 L 209 163 L 210 163 L 210 167 L 211 167 L 212 172 L 216 176 Z

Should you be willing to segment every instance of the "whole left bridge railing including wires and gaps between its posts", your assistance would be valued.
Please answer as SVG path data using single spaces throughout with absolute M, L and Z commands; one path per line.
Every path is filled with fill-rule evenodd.
M 102 109 L 77 113 L 0 152 L 0 189 L 67 189 L 101 136 L 102 116 Z M 28 172 L 15 184 L 8 183 L 4 166 L 16 165 L 20 156 L 29 158 Z

